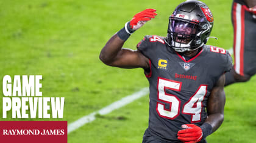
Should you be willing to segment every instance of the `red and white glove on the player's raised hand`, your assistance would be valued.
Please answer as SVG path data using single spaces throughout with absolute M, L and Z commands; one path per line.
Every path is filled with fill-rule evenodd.
M 137 30 L 147 21 L 150 21 L 151 18 L 155 18 L 155 15 L 157 15 L 157 13 L 155 13 L 156 11 L 157 10 L 155 9 L 146 9 L 140 13 L 137 13 L 130 21 L 130 28 L 132 28 L 132 30 Z

